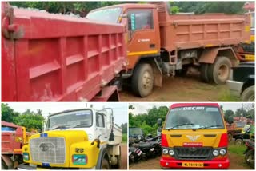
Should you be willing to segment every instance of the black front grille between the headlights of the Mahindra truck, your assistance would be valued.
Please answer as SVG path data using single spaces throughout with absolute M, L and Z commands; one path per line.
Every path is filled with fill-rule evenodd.
M 211 147 L 174 147 L 175 157 L 178 160 L 210 160 Z

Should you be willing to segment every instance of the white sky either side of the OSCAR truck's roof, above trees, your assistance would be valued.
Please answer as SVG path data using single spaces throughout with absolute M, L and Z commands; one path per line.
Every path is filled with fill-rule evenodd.
M 159 106 L 164 106 L 166 105 L 167 107 L 170 107 L 170 105 L 173 103 L 168 103 L 168 102 L 140 102 L 140 103 L 129 103 L 129 105 L 133 105 L 134 109 L 131 110 L 129 109 L 129 112 L 134 113 L 135 115 L 140 114 L 140 113 L 147 113 L 148 109 L 151 109 L 153 106 L 159 107 Z M 234 112 L 241 108 L 242 103 L 241 102 L 222 102 L 222 103 L 218 103 L 219 105 L 223 106 L 224 110 L 233 110 Z M 246 103 L 243 103 L 246 106 Z M 248 105 L 248 103 L 247 103 Z

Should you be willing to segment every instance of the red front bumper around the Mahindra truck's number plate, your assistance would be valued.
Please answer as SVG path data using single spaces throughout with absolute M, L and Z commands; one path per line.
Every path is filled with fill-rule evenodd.
M 163 169 L 170 169 L 170 168 L 176 168 L 176 169 L 195 169 L 194 167 L 183 167 L 183 162 L 198 162 L 203 163 L 203 167 L 198 167 L 197 169 L 228 169 L 230 166 L 230 160 L 226 158 L 224 161 L 180 161 L 180 160 L 168 160 L 161 158 L 160 159 L 160 165 Z

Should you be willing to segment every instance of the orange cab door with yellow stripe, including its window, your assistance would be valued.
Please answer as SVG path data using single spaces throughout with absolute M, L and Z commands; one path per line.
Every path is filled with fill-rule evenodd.
M 158 54 L 160 35 L 156 9 L 127 10 L 128 56 L 130 63 L 142 55 Z M 133 66 L 132 66 L 133 67 Z

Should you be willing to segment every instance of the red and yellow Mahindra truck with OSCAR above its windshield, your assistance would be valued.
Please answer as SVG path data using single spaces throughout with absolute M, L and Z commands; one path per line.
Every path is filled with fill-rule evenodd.
M 162 168 L 227 169 L 227 147 L 226 125 L 217 103 L 170 106 L 162 128 Z

